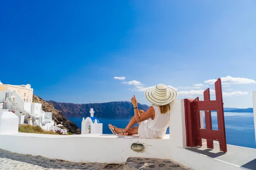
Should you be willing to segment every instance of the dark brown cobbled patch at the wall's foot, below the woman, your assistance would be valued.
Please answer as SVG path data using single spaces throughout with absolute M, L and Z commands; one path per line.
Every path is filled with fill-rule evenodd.
M 124 170 L 189 170 L 168 159 L 128 158 Z

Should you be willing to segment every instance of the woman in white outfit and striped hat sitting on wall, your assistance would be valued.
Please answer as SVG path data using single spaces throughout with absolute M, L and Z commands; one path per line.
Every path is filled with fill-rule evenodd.
M 125 129 L 109 124 L 108 127 L 113 134 L 119 136 L 138 134 L 140 138 L 149 139 L 165 136 L 170 122 L 170 103 L 177 97 L 177 92 L 166 85 L 158 84 L 156 87 L 146 90 L 145 97 L 152 106 L 147 111 L 138 110 L 138 101 L 133 96 L 131 103 L 134 106 L 134 116 Z M 133 127 L 137 122 L 139 122 L 139 127 Z

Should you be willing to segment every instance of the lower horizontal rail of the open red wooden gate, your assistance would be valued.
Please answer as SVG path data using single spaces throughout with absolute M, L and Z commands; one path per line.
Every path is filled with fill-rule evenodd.
M 220 141 L 221 131 L 219 131 L 219 130 L 208 130 L 208 129 L 196 129 L 196 136 L 200 137 L 200 138 L 203 138 L 203 139 Z

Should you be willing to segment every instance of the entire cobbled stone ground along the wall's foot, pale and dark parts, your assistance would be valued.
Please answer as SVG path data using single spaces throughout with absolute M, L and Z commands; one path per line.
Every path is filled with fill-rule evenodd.
M 0 170 L 103 170 L 107 164 L 77 163 L 0 149 Z M 168 159 L 128 158 L 117 170 L 188 170 Z

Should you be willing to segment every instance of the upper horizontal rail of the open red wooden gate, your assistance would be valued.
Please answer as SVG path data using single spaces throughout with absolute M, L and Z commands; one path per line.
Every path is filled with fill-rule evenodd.
M 195 111 L 217 111 L 219 103 L 216 100 L 212 101 L 194 101 Z

